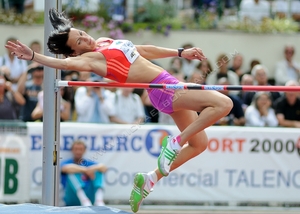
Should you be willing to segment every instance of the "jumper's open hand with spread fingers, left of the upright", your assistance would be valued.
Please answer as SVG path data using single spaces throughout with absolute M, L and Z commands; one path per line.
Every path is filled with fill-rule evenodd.
M 7 48 L 11 52 L 11 54 L 17 56 L 18 59 L 32 59 L 33 51 L 20 41 L 17 41 L 16 43 L 8 41 L 5 45 L 5 48 Z

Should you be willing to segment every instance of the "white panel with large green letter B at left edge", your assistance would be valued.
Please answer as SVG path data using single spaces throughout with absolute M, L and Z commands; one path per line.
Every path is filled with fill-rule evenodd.
M 0 133 L 0 201 L 29 200 L 29 162 L 26 135 Z

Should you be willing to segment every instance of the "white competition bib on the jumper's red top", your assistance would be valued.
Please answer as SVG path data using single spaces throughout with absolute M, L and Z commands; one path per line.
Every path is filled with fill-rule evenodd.
M 140 55 L 134 44 L 128 40 L 114 40 L 108 49 L 117 49 L 122 51 L 131 64 Z

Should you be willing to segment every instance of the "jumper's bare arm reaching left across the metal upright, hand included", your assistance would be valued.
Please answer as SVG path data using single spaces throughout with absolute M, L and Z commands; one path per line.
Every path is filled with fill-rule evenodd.
M 90 54 L 66 59 L 57 59 L 35 53 L 20 41 L 17 41 L 17 43 L 8 42 L 5 47 L 11 51 L 12 54 L 17 56 L 18 59 L 33 60 L 42 65 L 61 70 L 92 71 L 90 66 L 90 61 L 92 61 L 89 57 Z

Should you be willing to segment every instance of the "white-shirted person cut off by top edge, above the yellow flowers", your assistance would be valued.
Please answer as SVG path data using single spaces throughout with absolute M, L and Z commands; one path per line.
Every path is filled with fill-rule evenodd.
M 270 4 L 265 0 L 242 0 L 240 8 L 241 20 L 260 22 L 263 18 L 270 17 Z

